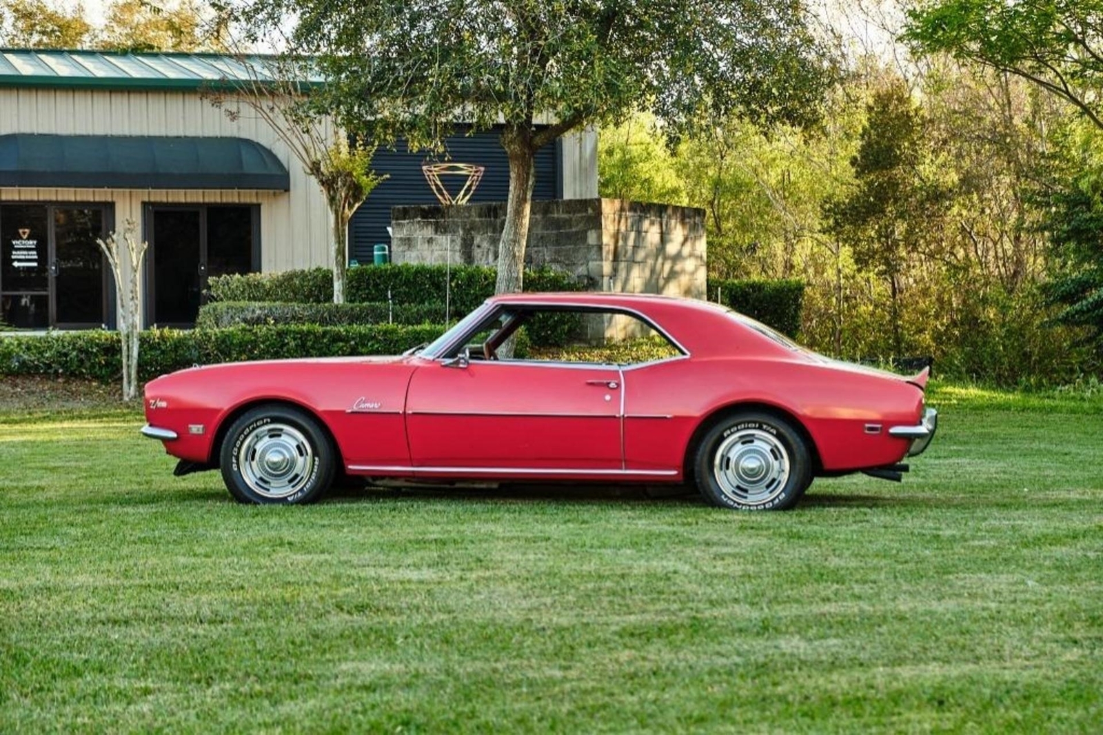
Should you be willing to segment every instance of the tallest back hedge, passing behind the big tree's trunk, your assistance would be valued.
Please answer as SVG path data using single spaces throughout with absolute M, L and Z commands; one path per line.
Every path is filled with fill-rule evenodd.
M 349 303 L 443 303 L 448 267 L 442 265 L 381 265 L 349 268 Z M 494 295 L 496 270 L 485 266 L 451 267 L 452 312 L 462 316 Z M 326 303 L 333 300 L 333 275 L 328 268 L 283 273 L 216 276 L 210 279 L 214 301 L 278 301 Z M 553 268 L 525 271 L 525 290 L 577 291 L 582 285 L 570 274 Z

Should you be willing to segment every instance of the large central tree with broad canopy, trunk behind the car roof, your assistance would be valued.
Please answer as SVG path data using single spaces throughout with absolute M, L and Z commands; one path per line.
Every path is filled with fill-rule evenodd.
M 704 110 L 806 121 L 827 54 L 800 0 L 257 0 L 256 31 L 295 18 L 329 108 L 379 142 L 439 148 L 457 124 L 502 125 L 510 194 L 499 291 L 520 290 L 535 152 L 634 108 L 685 130 Z

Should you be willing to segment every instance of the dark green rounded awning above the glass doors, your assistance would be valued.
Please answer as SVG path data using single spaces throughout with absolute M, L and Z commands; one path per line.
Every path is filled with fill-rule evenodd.
M 0 136 L 0 187 L 288 191 L 276 155 L 244 138 Z

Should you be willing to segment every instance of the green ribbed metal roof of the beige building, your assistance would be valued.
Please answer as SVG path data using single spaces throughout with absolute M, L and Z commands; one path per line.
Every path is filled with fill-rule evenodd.
M 0 87 L 226 88 L 250 78 L 270 78 L 265 74 L 270 58 L 249 56 L 243 64 L 239 57 L 223 54 L 0 49 Z

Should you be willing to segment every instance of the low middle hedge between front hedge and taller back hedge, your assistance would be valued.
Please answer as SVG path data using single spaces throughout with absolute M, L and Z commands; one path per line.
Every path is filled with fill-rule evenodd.
M 200 307 L 197 329 L 319 324 L 321 327 L 425 324 L 443 321 L 443 303 L 283 303 L 280 301 L 212 301 Z

